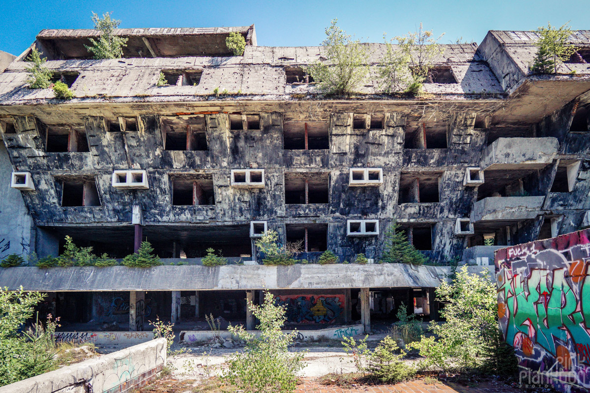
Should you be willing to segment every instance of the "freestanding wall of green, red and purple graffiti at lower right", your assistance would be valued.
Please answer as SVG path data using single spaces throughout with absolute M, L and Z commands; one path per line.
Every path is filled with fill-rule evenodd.
M 523 384 L 590 388 L 590 229 L 496 252 L 498 316 Z

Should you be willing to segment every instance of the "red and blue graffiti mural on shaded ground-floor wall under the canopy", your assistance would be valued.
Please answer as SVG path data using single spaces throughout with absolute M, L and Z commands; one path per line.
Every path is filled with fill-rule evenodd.
M 344 295 L 281 295 L 277 305 L 286 306 L 289 323 L 332 323 L 344 311 Z

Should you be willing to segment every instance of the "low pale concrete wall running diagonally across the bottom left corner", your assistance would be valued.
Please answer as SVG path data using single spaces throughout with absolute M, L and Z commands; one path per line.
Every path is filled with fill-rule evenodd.
M 166 339 L 160 338 L 6 385 L 0 393 L 131 392 L 165 365 Z

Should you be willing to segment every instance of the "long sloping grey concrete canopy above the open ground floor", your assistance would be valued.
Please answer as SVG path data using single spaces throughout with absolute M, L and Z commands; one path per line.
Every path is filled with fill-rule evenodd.
M 378 265 L 11 267 L 0 269 L 9 290 L 222 290 L 434 288 L 449 267 Z

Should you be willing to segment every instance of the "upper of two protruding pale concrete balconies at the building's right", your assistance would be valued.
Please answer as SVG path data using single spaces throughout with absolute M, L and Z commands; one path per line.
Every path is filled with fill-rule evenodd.
M 497 138 L 481 156 L 481 169 L 539 169 L 559 150 L 557 138 Z

